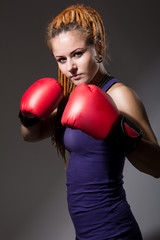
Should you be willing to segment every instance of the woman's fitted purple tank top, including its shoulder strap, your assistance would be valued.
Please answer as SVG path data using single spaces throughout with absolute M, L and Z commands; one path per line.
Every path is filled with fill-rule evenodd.
M 118 80 L 106 79 L 107 91 Z M 141 240 L 123 189 L 124 158 L 103 140 L 66 128 L 67 200 L 77 240 Z

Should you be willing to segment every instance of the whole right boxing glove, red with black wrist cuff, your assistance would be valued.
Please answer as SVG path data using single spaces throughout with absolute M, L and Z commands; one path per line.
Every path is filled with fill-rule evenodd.
M 142 136 L 139 128 L 120 115 L 111 97 L 95 85 L 76 87 L 61 122 L 95 139 L 104 139 L 114 152 L 123 156 L 136 148 Z

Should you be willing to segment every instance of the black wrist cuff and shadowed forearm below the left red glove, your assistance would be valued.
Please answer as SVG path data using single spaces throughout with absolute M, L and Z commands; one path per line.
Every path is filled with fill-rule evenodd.
M 50 137 L 55 128 L 56 113 L 57 111 L 55 110 L 49 118 L 46 120 L 40 120 L 40 122 L 32 127 L 24 127 L 21 124 L 21 134 L 23 140 L 28 142 L 37 142 Z

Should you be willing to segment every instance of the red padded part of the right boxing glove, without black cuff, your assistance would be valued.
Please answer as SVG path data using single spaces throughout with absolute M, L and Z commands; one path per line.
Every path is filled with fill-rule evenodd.
M 96 139 L 104 139 L 118 124 L 119 111 L 111 97 L 95 85 L 78 85 L 71 94 L 61 123 Z

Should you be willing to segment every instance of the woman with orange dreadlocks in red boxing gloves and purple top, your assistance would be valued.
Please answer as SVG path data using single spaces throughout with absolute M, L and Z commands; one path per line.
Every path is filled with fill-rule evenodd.
M 112 77 L 104 67 L 105 30 L 95 10 L 82 5 L 65 9 L 49 24 L 47 45 L 58 63 L 63 99 L 61 87 L 54 86 L 54 92 L 59 95 L 58 101 L 57 96 L 53 100 L 57 107 L 44 117 L 39 114 L 39 108 L 45 105 L 47 97 L 34 100 L 38 101 L 38 110 L 36 106 L 31 111 L 23 105 L 33 94 L 27 92 L 19 115 L 22 136 L 31 142 L 52 136 L 64 160 L 65 149 L 70 152 L 67 196 L 77 240 L 140 240 L 141 232 L 125 197 L 122 172 L 126 156 L 140 171 L 155 178 L 160 176 L 160 148 L 144 106 L 132 89 Z M 34 91 L 36 88 L 34 85 Z M 88 89 L 97 91 L 92 101 Z M 101 97 L 106 105 L 103 102 L 96 108 Z M 101 106 L 105 107 L 99 113 Z M 103 115 L 106 108 L 107 118 Z M 113 114 L 108 109 L 112 109 Z M 79 112 L 82 115 L 80 125 L 85 123 L 85 126 L 77 124 Z M 88 112 L 91 121 L 86 117 Z M 97 115 L 98 120 L 95 120 Z M 105 137 L 99 137 L 99 129 L 102 132 L 104 129 L 101 126 L 104 118 L 108 132 Z M 120 123 L 125 126 L 123 131 Z

